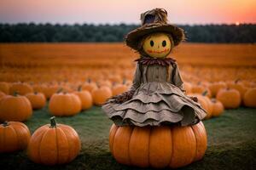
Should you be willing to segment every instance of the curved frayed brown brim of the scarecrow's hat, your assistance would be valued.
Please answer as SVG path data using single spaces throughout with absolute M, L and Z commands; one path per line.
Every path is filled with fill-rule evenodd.
M 177 46 L 185 38 L 182 28 L 170 24 L 154 23 L 144 25 L 130 31 L 125 37 L 126 45 L 137 50 L 141 38 L 154 32 L 165 32 L 166 34 L 170 34 L 172 36 L 174 46 Z

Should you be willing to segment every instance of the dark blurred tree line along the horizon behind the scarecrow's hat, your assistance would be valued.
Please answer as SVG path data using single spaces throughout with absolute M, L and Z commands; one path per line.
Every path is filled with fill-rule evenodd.
M 138 25 L 0 24 L 0 42 L 122 42 Z M 180 26 L 187 42 L 256 42 L 256 25 Z

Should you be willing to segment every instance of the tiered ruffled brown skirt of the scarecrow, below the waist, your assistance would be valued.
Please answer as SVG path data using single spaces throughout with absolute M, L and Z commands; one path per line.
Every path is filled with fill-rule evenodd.
M 122 104 L 109 100 L 102 109 L 117 126 L 188 126 L 207 116 L 200 104 L 169 82 L 143 83 L 132 99 Z

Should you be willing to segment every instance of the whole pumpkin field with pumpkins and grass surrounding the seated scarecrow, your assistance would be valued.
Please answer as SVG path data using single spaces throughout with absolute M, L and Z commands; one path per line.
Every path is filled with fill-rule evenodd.
M 206 155 L 181 169 L 255 169 L 256 45 L 183 43 L 170 56 L 208 113 Z M 1 169 L 139 169 L 115 161 L 101 108 L 131 87 L 138 57 L 124 43 L 0 44 Z M 55 159 L 44 150 L 61 146 Z

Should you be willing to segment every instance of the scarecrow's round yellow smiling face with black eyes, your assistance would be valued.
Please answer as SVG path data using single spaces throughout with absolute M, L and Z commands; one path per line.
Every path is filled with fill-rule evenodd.
M 171 51 L 170 38 L 165 33 L 150 34 L 143 42 L 143 50 L 150 57 L 164 58 Z

